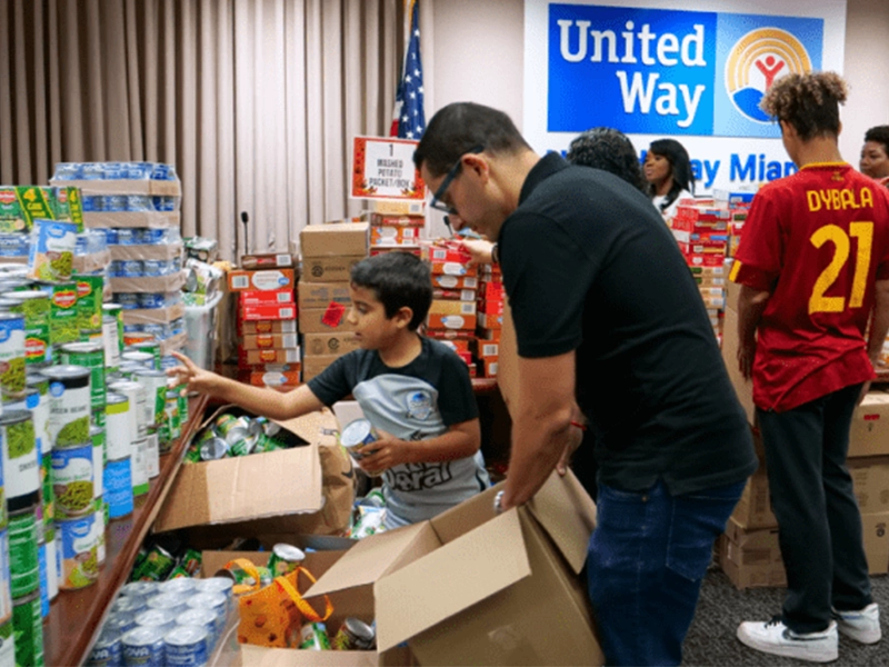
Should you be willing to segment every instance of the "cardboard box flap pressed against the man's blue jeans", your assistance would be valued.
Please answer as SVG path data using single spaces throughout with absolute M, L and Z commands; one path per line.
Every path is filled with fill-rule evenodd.
M 565 559 L 580 574 L 596 528 L 596 504 L 570 470 L 553 471 L 528 502 L 535 519 L 549 534 Z

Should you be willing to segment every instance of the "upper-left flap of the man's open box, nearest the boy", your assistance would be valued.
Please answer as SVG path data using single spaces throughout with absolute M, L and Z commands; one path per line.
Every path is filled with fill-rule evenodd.
M 349 549 L 334 567 L 306 591 L 304 597 L 373 584 L 387 573 L 429 554 L 438 546 L 434 531 L 426 522 L 371 535 Z

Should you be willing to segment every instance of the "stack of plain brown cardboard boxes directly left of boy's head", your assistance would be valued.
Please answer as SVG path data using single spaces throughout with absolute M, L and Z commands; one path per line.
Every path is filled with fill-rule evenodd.
M 350 271 L 368 256 L 367 222 L 307 225 L 300 232 L 302 279 L 299 283 L 299 330 L 302 334 L 302 381 L 334 359 L 358 348 L 348 321 Z

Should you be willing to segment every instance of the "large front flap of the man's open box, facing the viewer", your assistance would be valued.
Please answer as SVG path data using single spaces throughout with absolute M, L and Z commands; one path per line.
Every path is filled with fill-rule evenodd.
M 398 646 L 530 575 L 518 510 L 512 509 L 377 581 L 378 650 Z

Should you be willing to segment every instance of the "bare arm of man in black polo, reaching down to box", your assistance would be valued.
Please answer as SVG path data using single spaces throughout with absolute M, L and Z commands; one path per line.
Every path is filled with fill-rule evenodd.
M 571 426 L 573 351 L 540 359 L 519 357 L 518 378 L 503 509 L 527 502 L 543 486 L 576 428 Z

